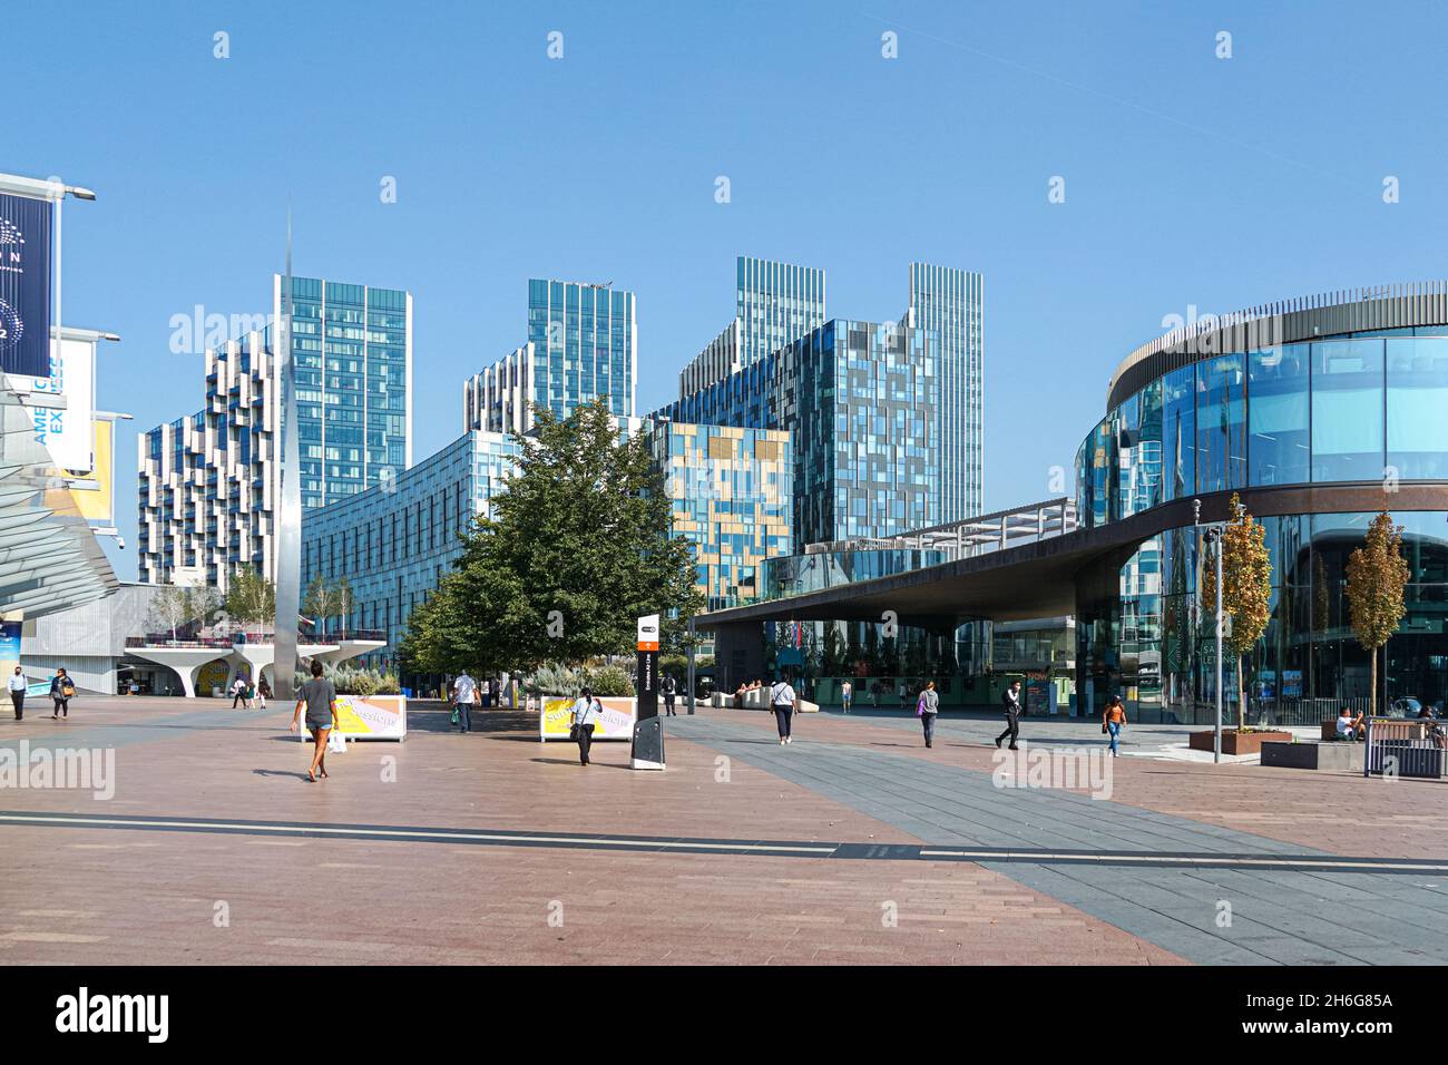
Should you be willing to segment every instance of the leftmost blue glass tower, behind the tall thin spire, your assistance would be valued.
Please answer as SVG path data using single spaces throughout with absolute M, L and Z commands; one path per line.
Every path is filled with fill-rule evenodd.
M 281 275 L 272 313 L 282 313 Z M 413 464 L 413 297 L 395 288 L 291 280 L 301 504 L 323 507 Z

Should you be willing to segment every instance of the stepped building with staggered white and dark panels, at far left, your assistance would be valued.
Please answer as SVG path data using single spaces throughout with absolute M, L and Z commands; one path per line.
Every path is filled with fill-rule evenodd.
M 136 564 L 146 584 L 224 591 L 242 565 L 277 575 L 281 400 L 271 330 L 207 351 L 204 369 L 201 410 L 136 438 Z

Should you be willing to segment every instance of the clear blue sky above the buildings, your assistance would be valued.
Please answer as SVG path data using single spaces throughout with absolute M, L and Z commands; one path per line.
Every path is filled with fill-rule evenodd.
M 288 201 L 298 274 L 416 298 L 416 458 L 524 339 L 529 277 L 639 294 L 649 410 L 733 313 L 738 254 L 827 268 L 860 319 L 904 310 L 912 259 L 979 270 L 990 509 L 1048 494 L 1164 316 L 1448 275 L 1431 3 L 90 1 L 0 26 L 0 170 L 100 194 L 67 210 L 65 317 L 123 338 L 98 387 L 136 416 L 127 580 L 135 430 L 201 403 L 171 316 L 265 312 Z

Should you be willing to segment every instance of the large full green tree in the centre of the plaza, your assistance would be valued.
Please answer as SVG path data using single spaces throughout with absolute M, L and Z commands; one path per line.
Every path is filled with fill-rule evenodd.
M 534 412 L 517 472 L 404 640 L 410 668 L 533 669 L 631 652 L 636 619 L 662 616 L 660 649 L 686 646 L 704 598 L 649 438 L 620 440 L 602 401 L 559 420 Z

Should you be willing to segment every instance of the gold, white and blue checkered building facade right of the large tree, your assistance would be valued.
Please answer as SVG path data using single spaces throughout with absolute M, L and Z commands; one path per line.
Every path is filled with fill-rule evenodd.
M 765 559 L 789 551 L 789 433 L 654 422 L 650 445 L 708 609 L 752 603 Z

